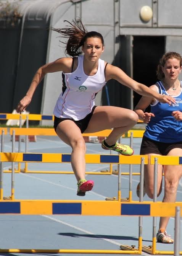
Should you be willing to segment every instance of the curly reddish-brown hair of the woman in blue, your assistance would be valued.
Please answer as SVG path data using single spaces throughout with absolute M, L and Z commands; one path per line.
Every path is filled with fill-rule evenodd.
M 182 66 L 182 57 L 179 53 L 177 53 L 177 52 L 167 52 L 160 59 L 159 64 L 157 66 L 156 74 L 157 74 L 157 78 L 159 80 L 163 80 L 163 78 L 164 78 L 164 72 L 162 70 L 162 67 L 164 67 L 166 61 L 169 60 L 169 59 L 179 60 L 179 65 L 180 65 L 180 67 Z

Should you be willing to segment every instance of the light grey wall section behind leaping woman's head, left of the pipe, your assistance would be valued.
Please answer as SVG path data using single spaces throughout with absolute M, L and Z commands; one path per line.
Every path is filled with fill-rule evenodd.
M 89 10 L 89 11 L 88 11 Z M 98 15 L 98 10 L 102 10 Z M 110 15 L 105 15 L 110 10 Z M 86 0 L 78 3 L 60 4 L 52 14 L 50 26 L 63 28 L 66 25 L 64 20 L 72 21 L 75 17 L 81 17 L 82 22 L 88 31 L 98 31 L 105 40 L 106 51 L 102 58 L 112 63 L 114 59 L 114 1 L 113 0 Z M 61 18 L 60 18 L 61 17 Z M 50 31 L 47 62 L 51 62 L 60 57 L 64 57 L 64 44 L 59 43 L 59 35 L 55 31 Z M 42 113 L 52 113 L 58 95 L 61 92 L 62 77 L 61 72 L 47 74 L 43 86 Z M 101 105 L 102 93 L 98 93 L 95 99 L 97 105 Z M 43 121 L 43 124 L 47 123 Z

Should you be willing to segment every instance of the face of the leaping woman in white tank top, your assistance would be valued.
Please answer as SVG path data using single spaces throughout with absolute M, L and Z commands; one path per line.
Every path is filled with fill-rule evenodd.
M 104 51 L 104 46 L 100 38 L 87 38 L 82 46 L 82 51 L 86 59 L 95 62 Z

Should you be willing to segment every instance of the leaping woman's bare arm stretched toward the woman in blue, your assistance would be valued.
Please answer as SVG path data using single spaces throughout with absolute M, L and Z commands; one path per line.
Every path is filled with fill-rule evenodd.
M 175 103 L 175 99 L 169 95 L 161 95 L 151 88 L 148 88 L 142 83 L 138 83 L 132 78 L 130 78 L 126 73 L 124 73 L 120 68 L 108 64 L 106 67 L 106 81 L 110 79 L 115 79 L 119 83 L 126 85 L 130 89 L 136 91 L 140 95 L 151 97 L 157 99 L 161 103 L 172 104 Z

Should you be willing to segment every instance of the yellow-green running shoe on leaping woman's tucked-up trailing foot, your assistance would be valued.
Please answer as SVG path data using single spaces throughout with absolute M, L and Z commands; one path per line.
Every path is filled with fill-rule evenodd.
M 104 141 L 105 140 L 103 140 L 101 143 L 101 147 L 103 149 L 114 150 L 124 156 L 131 156 L 134 154 L 134 150 L 132 148 L 130 148 L 130 146 L 128 146 L 128 145 L 119 144 L 118 142 L 116 142 L 116 144 L 113 147 L 106 147 Z

